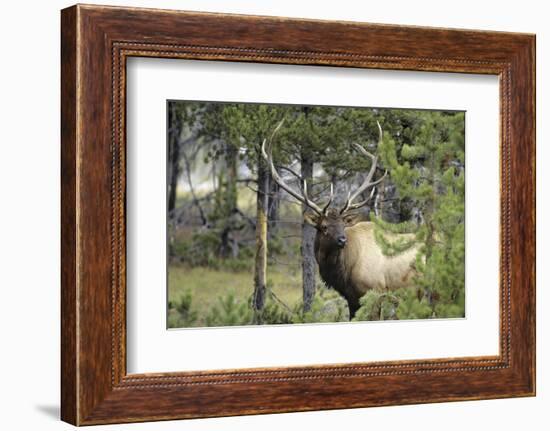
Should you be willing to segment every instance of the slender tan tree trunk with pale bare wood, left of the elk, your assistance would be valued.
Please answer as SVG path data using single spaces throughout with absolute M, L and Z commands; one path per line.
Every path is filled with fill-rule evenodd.
M 269 175 L 261 155 L 258 156 L 258 191 L 256 192 L 256 259 L 254 265 L 254 310 L 264 308 L 267 272 L 267 211 Z

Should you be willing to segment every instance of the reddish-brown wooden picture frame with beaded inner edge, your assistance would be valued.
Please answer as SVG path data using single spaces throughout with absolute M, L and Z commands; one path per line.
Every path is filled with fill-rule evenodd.
M 535 394 L 534 35 L 83 5 L 64 9 L 61 21 L 64 421 L 91 425 Z M 130 56 L 498 75 L 500 354 L 127 374 Z

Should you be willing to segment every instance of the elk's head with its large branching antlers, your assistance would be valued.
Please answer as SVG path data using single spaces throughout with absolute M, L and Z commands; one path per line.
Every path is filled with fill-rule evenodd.
M 279 187 L 281 187 L 288 194 L 290 194 L 295 199 L 302 202 L 307 208 L 309 208 L 309 211 L 306 211 L 304 213 L 304 221 L 317 229 L 317 235 L 318 237 L 320 236 L 320 240 L 323 241 L 324 244 L 326 244 L 330 248 L 344 248 L 347 242 L 345 228 L 353 226 L 361 220 L 361 214 L 357 213 L 356 211 L 365 206 L 370 201 L 370 199 L 374 195 L 375 186 L 386 177 L 387 171 L 384 172 L 384 175 L 382 175 L 382 177 L 380 177 L 378 180 L 373 181 L 378 163 L 378 157 L 365 150 L 365 148 L 363 148 L 361 145 L 356 143 L 352 144 L 353 147 L 361 155 L 370 158 L 372 161 L 365 180 L 363 181 L 361 186 L 359 186 L 353 193 L 351 192 L 351 190 L 349 191 L 344 206 L 339 210 L 335 208 L 330 208 L 330 205 L 332 204 L 332 201 L 334 199 L 334 186 L 333 184 L 330 184 L 330 197 L 328 199 L 328 202 L 320 207 L 309 198 L 307 181 L 305 179 L 302 179 L 297 173 L 291 171 L 296 177 L 302 180 L 302 189 L 300 191 L 296 191 L 281 178 L 281 176 L 277 172 L 277 169 L 275 168 L 275 165 L 273 164 L 273 136 L 275 135 L 277 130 L 279 130 L 282 123 L 283 122 L 281 121 L 279 125 L 275 128 L 275 131 L 269 139 L 269 144 L 267 145 L 267 148 L 267 141 L 264 140 L 262 143 L 262 155 L 269 166 L 271 176 L 273 180 L 279 185 Z M 380 126 L 380 123 L 377 122 L 376 124 L 378 125 L 378 143 L 380 144 L 383 136 L 382 127 Z M 360 202 L 355 202 L 355 200 L 365 190 L 368 189 L 371 189 L 369 197 Z

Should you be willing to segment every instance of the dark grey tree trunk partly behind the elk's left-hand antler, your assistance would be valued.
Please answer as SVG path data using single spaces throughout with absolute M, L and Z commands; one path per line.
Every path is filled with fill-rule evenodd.
M 301 175 L 308 184 L 312 183 L 313 178 L 313 159 L 302 152 L 301 155 Z M 313 190 L 309 191 L 310 195 Z M 302 211 L 307 211 L 308 207 L 302 204 Z M 302 291 L 304 312 L 311 309 L 313 298 L 315 298 L 315 228 L 307 223 L 302 224 Z

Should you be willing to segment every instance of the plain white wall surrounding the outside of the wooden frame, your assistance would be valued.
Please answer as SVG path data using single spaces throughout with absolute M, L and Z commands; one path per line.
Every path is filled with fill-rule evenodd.
M 537 34 L 538 396 L 105 426 L 96 429 L 545 429 L 550 423 L 550 14 L 545 2 L 130 0 L 104 4 L 477 28 Z M 370 3 L 370 4 L 369 4 Z M 5 2 L 0 15 L 0 427 L 62 430 L 59 414 L 59 10 L 70 2 Z M 544 187 L 546 185 L 546 187 Z

